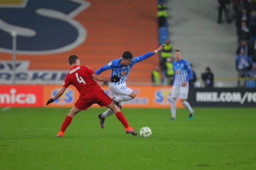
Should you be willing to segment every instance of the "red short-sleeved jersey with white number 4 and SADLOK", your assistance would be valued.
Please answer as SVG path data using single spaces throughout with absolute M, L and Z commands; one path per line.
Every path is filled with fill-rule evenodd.
M 64 80 L 63 87 L 70 84 L 76 87 L 80 99 L 91 98 L 102 89 L 92 78 L 94 71 L 88 66 L 72 66 Z

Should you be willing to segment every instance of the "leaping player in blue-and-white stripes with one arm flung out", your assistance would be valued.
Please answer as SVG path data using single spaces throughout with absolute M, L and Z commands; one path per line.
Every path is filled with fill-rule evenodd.
M 115 94 L 113 100 L 115 104 L 120 107 L 120 109 L 122 108 L 124 101 L 132 100 L 136 97 L 136 92 L 128 88 L 125 82 L 132 66 L 142 60 L 148 59 L 152 55 L 161 51 L 164 47 L 164 45 L 161 45 L 157 50 L 150 53 L 146 53 L 140 57 L 133 57 L 130 51 L 126 51 L 123 53 L 122 58 L 111 61 L 110 63 L 106 64 L 105 66 L 102 66 L 95 72 L 96 74 L 100 74 L 105 70 L 111 69 L 111 76 L 116 75 L 120 78 L 119 82 L 110 82 L 109 84 L 109 89 Z M 98 115 L 100 119 L 100 125 L 102 128 L 104 127 L 105 118 L 109 115 L 112 115 L 113 113 L 114 112 L 111 109 L 108 109 L 104 113 L 100 113 Z

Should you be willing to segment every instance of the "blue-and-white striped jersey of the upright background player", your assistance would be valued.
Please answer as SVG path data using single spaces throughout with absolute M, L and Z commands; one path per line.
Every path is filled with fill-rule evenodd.
M 182 82 L 188 82 L 192 77 L 192 70 L 188 61 L 181 59 L 173 62 L 174 82 L 173 86 L 182 86 Z M 187 85 L 188 86 L 188 83 Z

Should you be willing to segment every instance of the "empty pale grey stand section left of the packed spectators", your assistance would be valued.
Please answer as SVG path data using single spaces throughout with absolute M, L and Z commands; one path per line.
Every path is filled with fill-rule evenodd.
M 196 75 L 206 67 L 214 72 L 215 87 L 235 87 L 237 77 L 234 49 L 237 46 L 233 24 L 217 24 L 218 1 L 167 1 L 168 32 L 173 49 L 180 49 L 184 59 L 194 66 Z M 226 79 L 218 79 L 226 77 Z

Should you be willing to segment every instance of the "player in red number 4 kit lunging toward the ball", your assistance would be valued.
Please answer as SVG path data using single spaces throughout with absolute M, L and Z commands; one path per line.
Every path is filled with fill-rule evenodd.
M 116 117 L 124 125 L 126 133 L 132 133 L 132 135 L 137 135 L 133 128 L 129 126 L 126 118 L 124 117 L 120 109 L 114 104 L 112 99 L 110 99 L 108 95 L 104 93 L 104 91 L 100 88 L 97 82 L 93 79 L 95 78 L 98 81 L 104 82 L 118 82 L 120 78 L 118 78 L 117 76 L 107 78 L 95 74 L 90 67 L 80 66 L 80 60 L 76 55 L 71 55 L 68 59 L 68 62 L 71 66 L 71 69 L 66 75 L 62 88 L 56 93 L 56 95 L 53 98 L 50 98 L 48 100 L 46 105 L 54 102 L 54 100 L 62 96 L 62 94 L 64 94 L 66 88 L 68 88 L 70 84 L 76 87 L 80 96 L 77 102 L 70 110 L 70 112 L 68 113 L 66 119 L 62 123 L 60 132 L 56 135 L 56 137 L 63 137 L 64 132 L 68 125 L 70 125 L 74 115 L 76 115 L 76 113 L 78 113 L 81 110 L 86 110 L 88 107 L 92 106 L 92 104 L 98 104 L 101 107 L 105 106 L 110 108 L 112 111 L 116 113 Z M 100 119 L 101 124 L 103 125 L 104 120 L 105 119 Z

